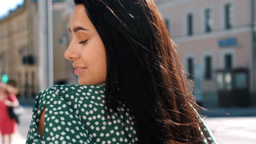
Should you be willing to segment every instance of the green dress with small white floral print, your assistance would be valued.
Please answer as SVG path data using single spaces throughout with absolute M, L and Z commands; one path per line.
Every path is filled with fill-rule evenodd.
M 118 113 L 109 109 L 108 115 L 104 87 L 56 85 L 40 92 L 34 102 L 26 143 L 136 143 L 138 138 L 130 109 L 119 103 Z M 38 123 L 44 106 L 41 139 Z

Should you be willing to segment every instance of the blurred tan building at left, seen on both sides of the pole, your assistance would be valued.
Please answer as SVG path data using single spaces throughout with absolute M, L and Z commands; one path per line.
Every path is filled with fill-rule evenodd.
M 74 74 L 71 75 L 72 65 L 63 56 L 71 39 L 68 27 L 74 8 L 72 4 L 53 1 L 54 84 L 75 81 Z M 19 99 L 31 104 L 40 91 L 37 6 L 36 1 L 25 0 L 0 20 L 0 74 L 7 74 L 9 82 L 19 89 Z

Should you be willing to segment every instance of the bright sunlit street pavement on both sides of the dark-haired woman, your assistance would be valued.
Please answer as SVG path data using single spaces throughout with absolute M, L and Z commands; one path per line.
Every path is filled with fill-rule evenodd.
M 13 143 L 25 144 L 28 127 L 32 117 L 32 107 L 24 107 L 20 118 L 19 133 L 14 135 Z M 256 142 L 256 117 L 206 118 L 205 123 L 212 130 L 220 144 L 254 144 Z M 1 139 L 1 137 L 0 137 Z

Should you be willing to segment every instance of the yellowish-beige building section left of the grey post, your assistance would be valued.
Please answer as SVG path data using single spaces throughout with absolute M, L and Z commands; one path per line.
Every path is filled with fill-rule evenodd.
M 37 93 L 36 3 L 24 4 L 0 20 L 0 72 L 19 88 L 20 99 Z

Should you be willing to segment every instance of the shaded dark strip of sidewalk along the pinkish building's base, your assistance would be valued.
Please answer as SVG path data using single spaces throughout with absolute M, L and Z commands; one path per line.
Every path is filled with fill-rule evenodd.
M 256 107 L 206 108 L 201 111 L 207 117 L 256 117 Z

